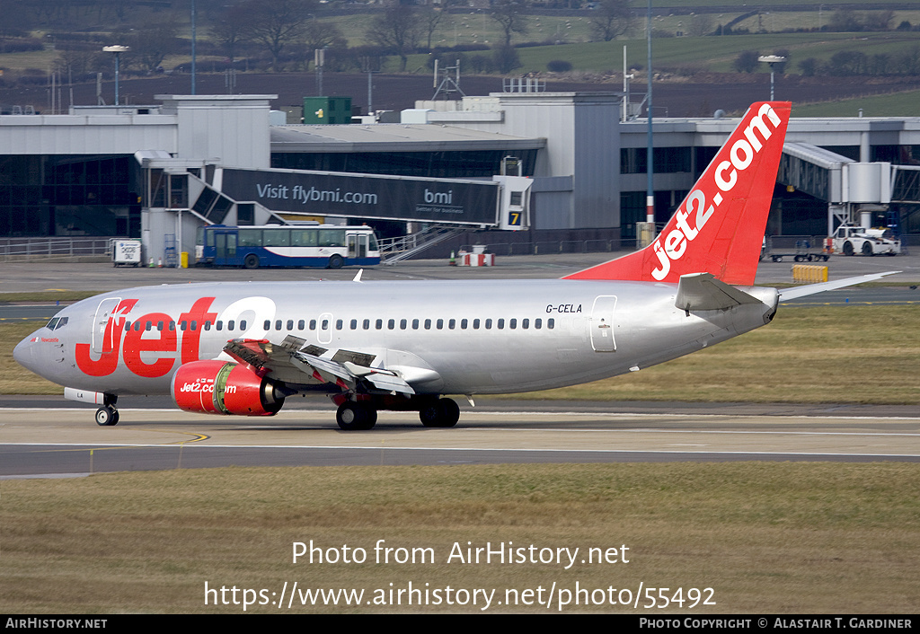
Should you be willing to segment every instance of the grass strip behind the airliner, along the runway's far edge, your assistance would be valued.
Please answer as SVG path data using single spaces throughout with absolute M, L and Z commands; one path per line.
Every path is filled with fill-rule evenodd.
M 772 324 L 710 349 L 520 398 L 920 405 L 917 323 L 920 305 L 780 306 Z M 61 394 L 12 358 L 40 325 L 0 324 L 0 394 Z

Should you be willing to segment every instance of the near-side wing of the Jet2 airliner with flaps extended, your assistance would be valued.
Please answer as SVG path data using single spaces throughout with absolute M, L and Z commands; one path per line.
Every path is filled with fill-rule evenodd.
M 269 340 L 231 340 L 224 352 L 240 363 L 247 363 L 259 375 L 290 384 L 332 384 L 342 390 L 365 394 L 415 394 L 412 386 L 397 373 L 371 367 L 374 354 L 348 350 L 328 350 L 288 335 L 280 344 Z

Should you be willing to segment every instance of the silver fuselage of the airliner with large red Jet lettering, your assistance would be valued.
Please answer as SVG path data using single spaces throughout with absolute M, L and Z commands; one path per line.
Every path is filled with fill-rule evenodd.
M 227 340 L 277 344 L 293 335 L 373 355 L 372 365 L 403 376 L 419 394 L 500 394 L 646 368 L 763 326 L 776 311 L 774 289 L 745 289 L 762 303 L 696 312 L 675 307 L 676 290 L 569 280 L 141 287 L 65 308 L 63 327 L 37 330 L 15 356 L 62 386 L 168 394 L 181 363 L 225 358 Z M 121 312 L 109 316 L 117 305 Z M 128 329 L 140 322 L 140 331 L 125 322 Z

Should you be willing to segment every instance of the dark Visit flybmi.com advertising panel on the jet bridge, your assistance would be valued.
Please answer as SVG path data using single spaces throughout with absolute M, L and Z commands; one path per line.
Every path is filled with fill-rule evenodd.
M 494 182 L 224 169 L 224 193 L 275 212 L 494 225 Z

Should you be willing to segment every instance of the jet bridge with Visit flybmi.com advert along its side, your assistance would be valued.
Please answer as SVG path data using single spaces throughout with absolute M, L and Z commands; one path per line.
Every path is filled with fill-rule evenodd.
M 421 179 L 220 167 L 154 152 L 135 157 L 144 172 L 142 236 L 154 258 L 165 249 L 165 235 L 177 236 L 179 250 L 193 251 L 200 225 L 284 224 L 292 216 L 505 230 L 530 225 L 533 180 L 523 177 Z

